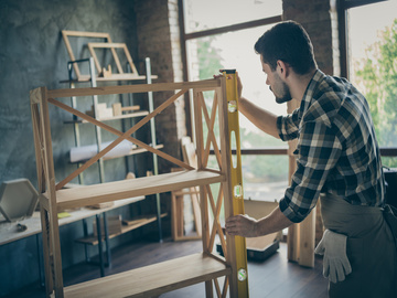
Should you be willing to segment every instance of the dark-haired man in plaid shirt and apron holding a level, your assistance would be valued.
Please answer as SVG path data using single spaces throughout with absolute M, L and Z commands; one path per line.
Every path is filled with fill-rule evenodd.
M 380 209 L 384 177 L 366 99 L 318 68 L 310 38 L 296 22 L 275 25 L 255 51 L 276 102 L 293 98 L 300 107 L 277 117 L 242 97 L 238 78 L 239 110 L 276 138 L 298 138 L 297 171 L 270 215 L 232 216 L 226 232 L 256 237 L 280 231 L 303 221 L 320 199 L 326 230 L 315 252 L 324 254 L 330 297 L 397 297 L 397 253 Z

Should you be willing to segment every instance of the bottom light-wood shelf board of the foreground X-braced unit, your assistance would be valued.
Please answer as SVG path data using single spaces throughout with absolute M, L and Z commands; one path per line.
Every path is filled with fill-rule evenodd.
M 206 254 L 158 263 L 64 288 L 65 297 L 155 297 L 229 275 L 232 269 Z

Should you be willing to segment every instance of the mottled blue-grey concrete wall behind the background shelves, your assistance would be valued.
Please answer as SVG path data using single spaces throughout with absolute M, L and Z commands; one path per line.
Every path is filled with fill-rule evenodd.
M 135 1 L 1 0 L 0 183 L 28 178 L 36 185 L 29 91 L 39 86 L 68 87 L 68 84 L 60 83 L 67 78 L 69 60 L 61 30 L 108 32 L 115 42 L 127 43 L 133 61 L 140 65 Z M 68 114 L 54 109 L 51 117 L 54 161 L 60 179 L 75 169 L 67 159 L 74 137 L 72 126 L 63 124 L 69 118 Z M 122 160 L 110 161 L 107 179 L 124 178 L 125 167 Z M 88 182 L 95 182 L 98 177 L 95 167 L 92 171 L 95 178 Z M 73 242 L 82 234 L 81 223 L 61 228 L 64 267 L 84 259 L 83 246 Z M 90 251 L 92 254 L 95 252 Z M 0 296 L 39 280 L 34 236 L 0 246 Z

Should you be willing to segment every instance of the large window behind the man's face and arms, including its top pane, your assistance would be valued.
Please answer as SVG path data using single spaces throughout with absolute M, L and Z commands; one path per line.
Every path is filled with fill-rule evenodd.
M 185 0 L 183 6 L 189 79 L 208 79 L 221 68 L 235 68 L 245 97 L 277 115 L 287 114 L 286 104 L 276 104 L 266 85 L 259 55 L 254 51 L 258 38 L 281 21 L 282 2 Z M 242 149 L 287 148 L 286 142 L 260 131 L 242 114 L 239 123 Z M 245 198 L 282 198 L 288 185 L 287 156 L 243 155 L 242 163 Z

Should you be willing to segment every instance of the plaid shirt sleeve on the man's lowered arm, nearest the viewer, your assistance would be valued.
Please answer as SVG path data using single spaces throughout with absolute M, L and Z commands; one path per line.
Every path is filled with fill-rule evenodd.
M 292 222 L 303 221 L 315 206 L 329 172 L 342 152 L 336 128 L 322 121 L 303 124 L 298 141 L 297 171 L 279 206 Z

